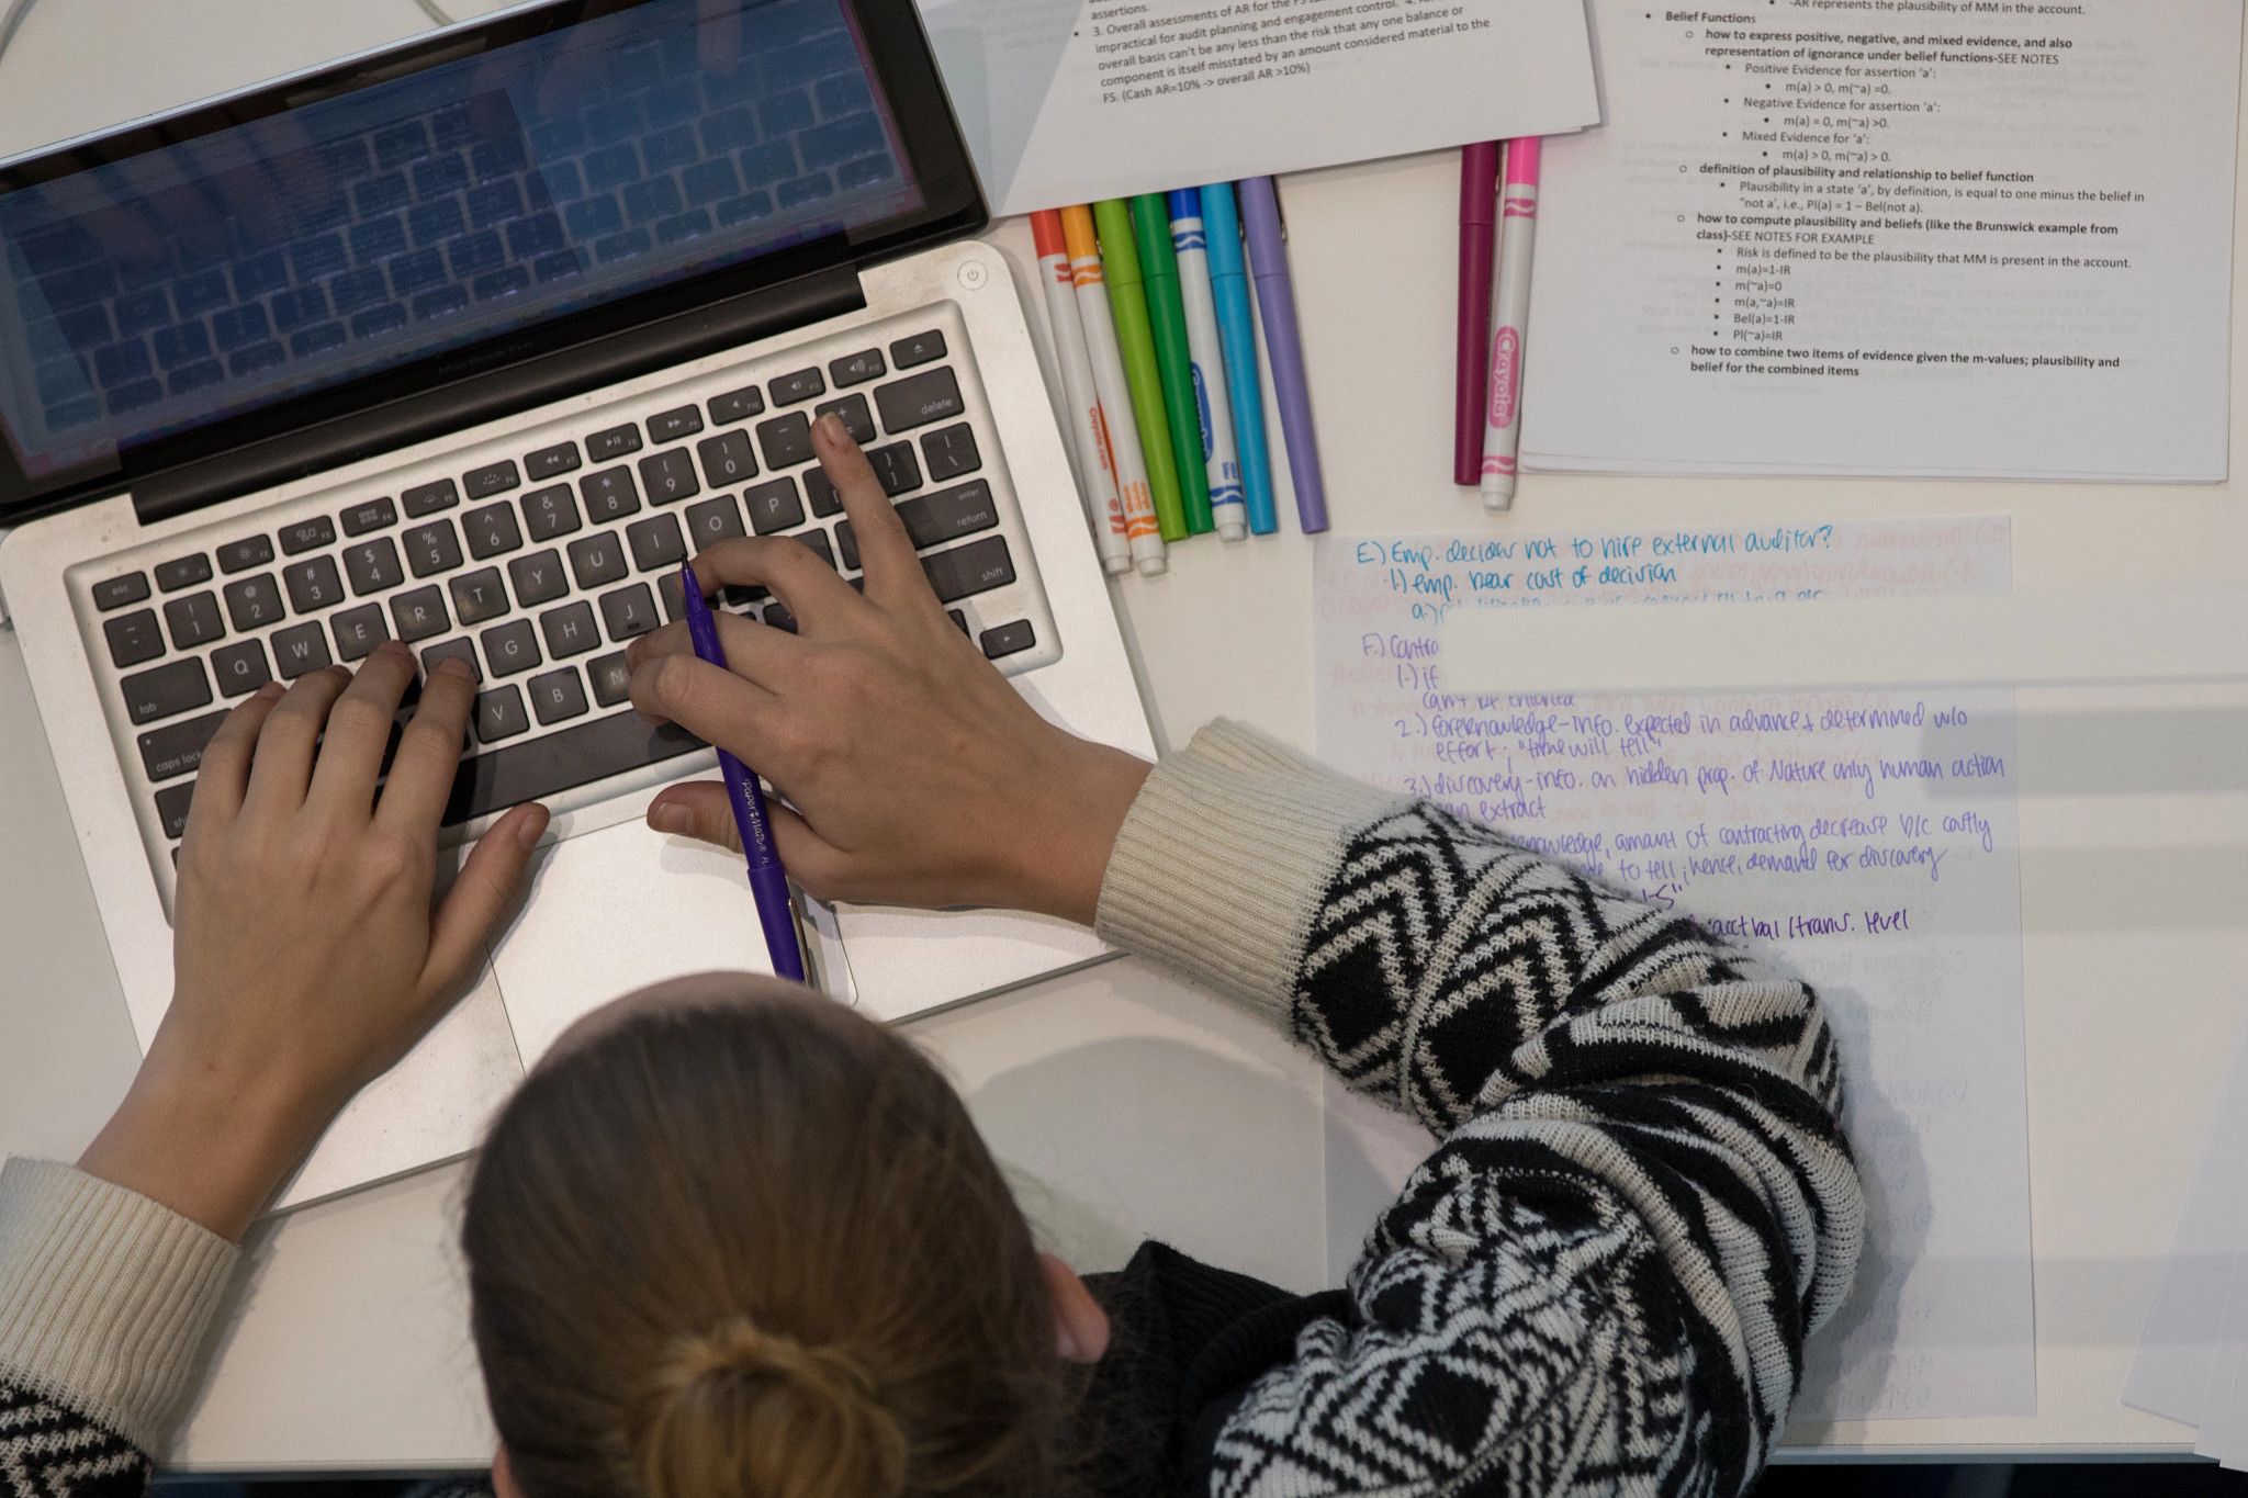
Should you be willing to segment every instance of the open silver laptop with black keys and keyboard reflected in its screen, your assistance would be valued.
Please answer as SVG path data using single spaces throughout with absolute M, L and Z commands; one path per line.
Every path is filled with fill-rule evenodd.
M 629 986 L 769 966 L 737 860 L 641 824 L 715 757 L 632 712 L 623 647 L 726 537 L 856 575 L 818 413 L 951 622 L 1048 719 L 1153 752 L 985 222 L 913 0 L 524 4 L 0 162 L 0 600 L 142 1044 L 198 757 L 268 678 L 459 656 L 447 849 L 555 813 L 477 988 L 283 1206 L 474 1148 Z M 1007 912 L 807 925 L 881 1020 L 1102 954 Z

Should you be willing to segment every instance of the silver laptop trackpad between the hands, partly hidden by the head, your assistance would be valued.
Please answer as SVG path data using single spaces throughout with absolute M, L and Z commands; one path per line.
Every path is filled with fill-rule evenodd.
M 737 853 L 620 822 L 544 849 L 531 880 L 492 952 L 524 1067 L 620 993 L 710 968 L 773 970 Z

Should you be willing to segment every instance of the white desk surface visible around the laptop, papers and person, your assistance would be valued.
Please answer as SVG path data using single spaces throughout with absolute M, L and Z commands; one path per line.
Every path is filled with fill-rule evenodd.
M 0 155 L 420 25 L 411 0 L 47 0 L 0 61 Z M 1436 155 L 1284 184 L 1344 535 L 1490 523 L 1445 472 L 1454 173 L 1454 157 Z M 1014 222 L 994 238 L 1039 308 L 1021 274 L 1027 231 Z M 2156 490 L 1533 476 L 1513 517 L 1495 523 L 1535 532 L 1985 512 L 2014 517 L 2016 586 L 2248 582 L 2239 481 Z M 1223 712 L 1311 748 L 1311 546 L 1293 519 L 1288 528 L 1239 548 L 1198 539 L 1173 550 L 1169 577 L 1120 584 L 1164 743 L 1185 743 Z M 2237 734 L 2241 723 L 2217 714 L 2185 732 Z M 2176 721 L 2147 728 L 2149 743 L 2181 732 Z M 2025 712 L 2023 764 L 2034 770 L 2041 734 L 2059 743 L 2068 732 L 2059 714 Z M 2129 755 L 2131 734 L 2120 741 Z M 2187 802 L 2151 791 L 2041 795 L 2032 770 L 2021 903 L 2039 1415 L 1798 1428 L 1794 1455 L 2187 1446 L 2181 1426 L 2127 1410 L 2118 1388 L 2244 1013 L 2248 773 Z M 2118 784 L 2133 779 L 2158 784 L 2122 766 Z M 135 1051 L 22 656 L 4 633 L 0 784 L 0 1148 L 70 1159 L 124 1091 Z M 1079 1267 L 1111 1267 L 1160 1235 L 1293 1289 L 1322 1285 L 1320 1076 L 1259 1022 L 1117 961 L 910 1029 L 1023 1177 L 1045 1240 Z M 409 1469 L 488 1458 L 450 1255 L 459 1179 L 456 1168 L 429 1170 L 259 1235 L 252 1289 L 187 1431 L 184 1464 Z

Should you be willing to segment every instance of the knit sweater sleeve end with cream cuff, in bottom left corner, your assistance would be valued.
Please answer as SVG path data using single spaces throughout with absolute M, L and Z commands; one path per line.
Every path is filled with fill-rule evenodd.
M 70 1166 L 0 1168 L 0 1469 L 16 1491 L 148 1487 L 241 1251 Z

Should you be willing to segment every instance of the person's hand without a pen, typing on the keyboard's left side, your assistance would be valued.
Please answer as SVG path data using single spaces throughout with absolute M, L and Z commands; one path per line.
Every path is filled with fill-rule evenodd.
M 209 748 L 180 847 L 173 999 L 117 1116 L 81 1157 L 236 1237 L 335 1112 L 411 1049 L 483 963 L 546 809 L 504 815 L 432 912 L 436 831 L 477 683 L 441 663 L 375 782 L 416 674 L 268 683 Z

